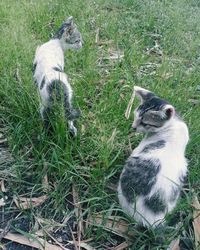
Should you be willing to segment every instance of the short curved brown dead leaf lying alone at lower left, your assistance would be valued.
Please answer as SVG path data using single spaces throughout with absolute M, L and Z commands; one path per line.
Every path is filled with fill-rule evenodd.
M 13 200 L 18 208 L 29 209 L 41 205 L 47 198 L 47 195 L 43 195 L 37 198 L 14 197 Z

